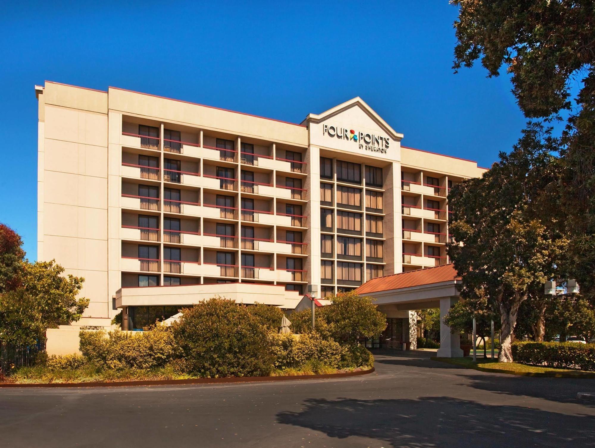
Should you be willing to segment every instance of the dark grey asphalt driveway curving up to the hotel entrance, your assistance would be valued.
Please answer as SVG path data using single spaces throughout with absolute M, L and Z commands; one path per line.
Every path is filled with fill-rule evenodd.
M 595 380 L 376 352 L 337 380 L 0 389 L 2 447 L 595 447 Z

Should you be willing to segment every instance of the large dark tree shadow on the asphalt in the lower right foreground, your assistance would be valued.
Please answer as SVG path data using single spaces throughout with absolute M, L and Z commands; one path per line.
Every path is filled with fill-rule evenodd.
M 300 412 L 280 412 L 277 422 L 384 447 L 595 447 L 595 417 L 452 397 L 306 399 Z

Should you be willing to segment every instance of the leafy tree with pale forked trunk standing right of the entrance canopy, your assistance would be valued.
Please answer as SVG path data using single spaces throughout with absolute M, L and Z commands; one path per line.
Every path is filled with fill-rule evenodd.
M 500 314 L 499 360 L 512 361 L 511 337 L 519 306 L 556 277 L 565 239 L 540 219 L 538 197 L 553 178 L 550 130 L 530 123 L 511 153 L 500 153 L 482 178 L 449 194 L 454 241 L 448 253 L 462 277 L 461 296 L 478 291 Z M 460 244 L 462 243 L 462 244 Z

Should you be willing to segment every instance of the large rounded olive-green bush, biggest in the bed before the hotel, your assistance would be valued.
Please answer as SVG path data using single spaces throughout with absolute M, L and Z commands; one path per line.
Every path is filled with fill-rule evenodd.
M 264 376 L 273 369 L 267 329 L 245 305 L 212 298 L 182 312 L 171 328 L 189 373 L 202 377 Z

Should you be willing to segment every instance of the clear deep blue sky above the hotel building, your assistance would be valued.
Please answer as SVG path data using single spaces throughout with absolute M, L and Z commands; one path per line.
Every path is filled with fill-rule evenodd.
M 490 166 L 525 119 L 506 75 L 453 74 L 444 1 L 8 2 L 0 17 L 0 222 L 36 258 L 44 80 L 300 122 L 361 96 L 402 144 Z

